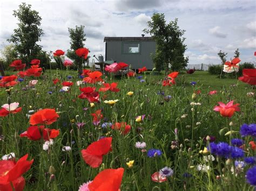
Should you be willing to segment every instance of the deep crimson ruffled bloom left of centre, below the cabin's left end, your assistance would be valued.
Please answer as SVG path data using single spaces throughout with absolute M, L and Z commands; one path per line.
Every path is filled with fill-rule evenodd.
M 99 92 L 95 91 L 95 87 L 79 88 L 82 91 L 78 97 L 81 99 L 87 99 L 90 103 L 99 102 Z

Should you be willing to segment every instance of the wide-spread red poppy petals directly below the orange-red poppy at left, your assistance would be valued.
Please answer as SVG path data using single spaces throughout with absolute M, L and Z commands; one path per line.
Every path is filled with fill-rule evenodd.
M 43 136 L 44 140 L 56 138 L 59 135 L 59 130 L 48 129 L 41 126 L 30 126 L 28 130 L 21 133 L 20 137 L 28 137 L 30 140 L 40 140 Z

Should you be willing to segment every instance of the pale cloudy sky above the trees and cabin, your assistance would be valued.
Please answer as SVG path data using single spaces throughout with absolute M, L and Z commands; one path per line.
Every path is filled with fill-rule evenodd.
M 178 26 L 186 31 L 189 63 L 218 64 L 220 50 L 228 53 L 229 60 L 237 48 L 242 62 L 256 63 L 255 0 L 1 0 L 0 50 L 17 28 L 12 14 L 22 2 L 31 4 L 42 17 L 44 35 L 38 44 L 45 51 L 66 52 L 68 28 L 84 25 L 90 55 L 105 55 L 104 37 L 140 37 L 152 14 L 164 13 L 166 22 L 178 18 Z

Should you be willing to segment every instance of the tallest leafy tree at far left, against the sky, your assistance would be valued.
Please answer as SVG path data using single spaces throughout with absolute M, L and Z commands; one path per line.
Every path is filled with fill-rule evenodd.
M 42 18 L 37 11 L 31 10 L 31 5 L 26 3 L 19 5 L 19 9 L 14 10 L 13 15 L 17 17 L 19 23 L 8 41 L 15 44 L 19 58 L 29 63 L 42 49 L 37 44 L 43 34 L 43 30 L 39 28 Z

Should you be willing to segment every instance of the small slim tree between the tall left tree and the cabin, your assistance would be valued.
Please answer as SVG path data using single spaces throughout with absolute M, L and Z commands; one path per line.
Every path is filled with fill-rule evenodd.
M 79 56 L 76 55 L 76 50 L 78 48 L 83 48 L 84 47 L 84 42 L 86 40 L 85 36 L 86 34 L 84 33 L 84 26 L 76 26 L 75 29 L 69 28 L 69 37 L 70 37 L 70 49 L 68 49 L 67 56 L 73 60 L 73 63 L 78 66 L 79 72 L 82 71 L 82 65 L 89 59 L 89 56 L 87 59 L 80 58 Z M 83 63 L 82 63 L 83 62 Z

